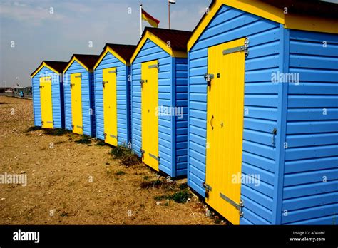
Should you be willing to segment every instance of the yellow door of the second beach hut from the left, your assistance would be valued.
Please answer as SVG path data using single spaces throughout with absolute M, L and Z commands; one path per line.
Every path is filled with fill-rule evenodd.
M 71 74 L 71 118 L 73 133 L 82 135 L 81 73 Z

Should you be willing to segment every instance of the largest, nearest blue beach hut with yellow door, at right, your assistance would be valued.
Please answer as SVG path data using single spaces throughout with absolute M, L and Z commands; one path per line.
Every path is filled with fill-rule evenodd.
M 233 224 L 335 224 L 337 4 L 212 1 L 188 42 L 188 185 Z

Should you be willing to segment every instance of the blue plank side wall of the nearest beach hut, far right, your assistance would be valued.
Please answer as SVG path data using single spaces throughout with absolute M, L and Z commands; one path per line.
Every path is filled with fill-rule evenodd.
M 338 36 L 290 30 L 282 224 L 334 224 L 338 210 Z

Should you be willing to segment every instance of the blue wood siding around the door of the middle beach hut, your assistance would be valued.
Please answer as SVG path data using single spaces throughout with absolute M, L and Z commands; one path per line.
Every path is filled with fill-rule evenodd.
M 117 96 L 117 122 L 118 145 L 127 145 L 130 141 L 130 103 L 129 103 L 129 67 L 122 63 L 111 53 L 107 53 L 95 70 L 95 104 L 96 104 L 96 136 L 104 140 L 103 121 L 103 69 L 116 68 L 116 96 Z

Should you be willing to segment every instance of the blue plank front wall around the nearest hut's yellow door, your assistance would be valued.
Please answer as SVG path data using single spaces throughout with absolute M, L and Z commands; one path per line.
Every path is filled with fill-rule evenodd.
M 189 53 L 188 185 L 205 197 L 208 48 L 247 37 L 242 175 L 260 175 L 260 184 L 242 183 L 245 202 L 240 224 L 271 224 L 277 168 L 272 130 L 277 127 L 280 26 L 229 6 L 222 6 Z

